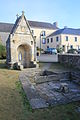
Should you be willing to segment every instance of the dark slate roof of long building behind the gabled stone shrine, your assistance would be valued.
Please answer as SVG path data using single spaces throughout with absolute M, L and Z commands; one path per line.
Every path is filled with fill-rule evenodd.
M 19 19 L 20 19 L 20 17 L 18 18 L 18 20 Z M 16 24 L 17 24 L 18 20 L 16 21 Z M 48 29 L 58 29 L 51 23 L 37 22 L 37 21 L 30 21 L 30 20 L 28 20 L 28 23 L 29 23 L 29 25 L 31 27 L 46 28 L 46 29 L 47 28 Z M 0 32 L 9 32 L 9 33 L 11 33 L 12 29 L 13 29 L 13 26 L 14 26 L 14 24 L 11 24 L 11 23 L 0 23 Z

